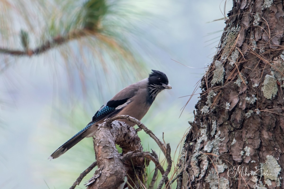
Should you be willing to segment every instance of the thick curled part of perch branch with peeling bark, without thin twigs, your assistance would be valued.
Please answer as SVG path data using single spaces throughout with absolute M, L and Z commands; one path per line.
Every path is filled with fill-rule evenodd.
M 134 128 L 119 121 L 111 123 L 110 128 L 104 123 L 97 130 L 94 149 L 99 168 L 87 183 L 87 189 L 117 188 L 124 182 L 127 168 L 131 167 L 124 166 L 116 149 L 116 143 L 128 148 L 127 150 L 143 152 Z M 144 169 L 144 158 L 135 158 L 133 163 L 134 167 L 141 166 Z

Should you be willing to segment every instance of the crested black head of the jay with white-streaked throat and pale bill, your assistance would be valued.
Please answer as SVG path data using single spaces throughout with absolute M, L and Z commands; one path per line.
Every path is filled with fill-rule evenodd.
M 159 92 L 164 89 L 172 88 L 169 85 L 168 77 L 163 72 L 152 70 L 152 73 L 149 74 L 148 80 L 149 94 L 152 97 L 153 101 Z

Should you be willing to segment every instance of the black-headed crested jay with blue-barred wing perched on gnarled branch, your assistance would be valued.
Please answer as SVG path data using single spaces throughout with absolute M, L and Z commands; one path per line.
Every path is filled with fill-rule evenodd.
M 141 120 L 151 107 L 157 94 L 164 89 L 172 89 L 168 77 L 161 71 L 152 70 L 148 78 L 131 84 L 114 95 L 95 113 L 91 122 L 85 128 L 55 150 L 48 159 L 58 158 L 85 137 L 95 136 L 98 126 L 109 118 L 129 115 Z M 129 126 L 135 126 L 134 123 L 126 119 L 121 119 L 121 121 Z

